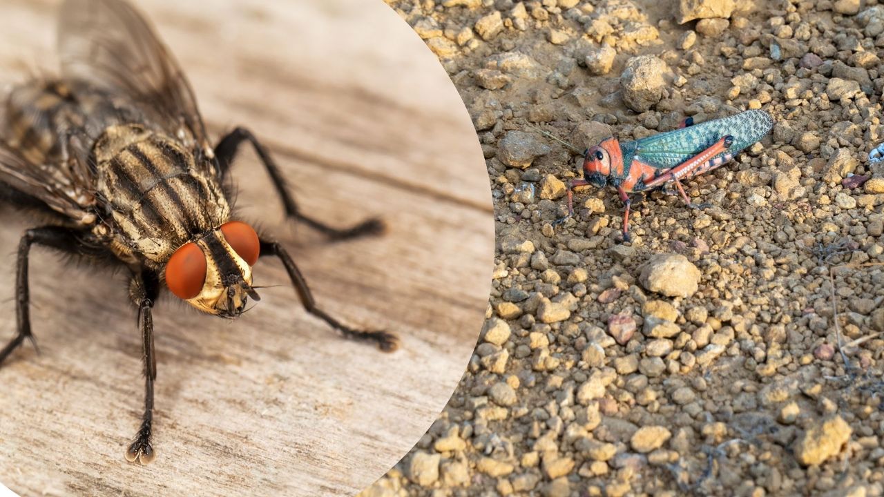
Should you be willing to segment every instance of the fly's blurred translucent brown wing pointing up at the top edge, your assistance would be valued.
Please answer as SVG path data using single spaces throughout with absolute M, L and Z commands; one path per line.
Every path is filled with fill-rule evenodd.
M 123 0 L 65 0 L 58 53 L 65 79 L 127 96 L 194 152 L 210 150 L 187 78 L 132 5 Z

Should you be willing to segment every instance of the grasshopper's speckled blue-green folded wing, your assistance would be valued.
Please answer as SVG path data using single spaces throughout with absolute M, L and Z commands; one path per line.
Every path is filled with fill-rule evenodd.
M 770 133 L 773 119 L 765 111 L 745 111 L 727 118 L 713 119 L 694 126 L 667 133 L 654 134 L 633 141 L 636 157 L 659 169 L 669 169 L 712 147 L 720 138 L 730 134 L 734 144 L 727 152 L 736 155 Z

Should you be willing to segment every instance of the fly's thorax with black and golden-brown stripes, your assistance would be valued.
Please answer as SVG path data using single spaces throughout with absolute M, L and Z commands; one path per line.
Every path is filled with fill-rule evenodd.
M 97 188 L 122 244 L 156 265 L 230 217 L 217 180 L 176 141 L 141 125 L 111 126 L 95 143 Z

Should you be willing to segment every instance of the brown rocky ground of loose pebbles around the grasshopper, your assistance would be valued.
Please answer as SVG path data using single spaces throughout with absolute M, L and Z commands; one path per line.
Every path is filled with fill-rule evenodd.
M 884 493 L 884 5 L 388 0 L 482 141 L 492 297 L 461 385 L 365 497 Z M 763 109 L 677 196 L 563 181 L 579 149 Z M 428 140 L 432 137 L 427 137 Z M 884 163 L 882 163 L 884 164 Z

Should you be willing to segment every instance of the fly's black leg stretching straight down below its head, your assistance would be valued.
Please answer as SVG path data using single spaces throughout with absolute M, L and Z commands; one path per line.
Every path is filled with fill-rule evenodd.
M 141 328 L 141 351 L 144 361 L 144 415 L 141 428 L 126 448 L 126 460 L 147 464 L 156 454 L 150 444 L 154 421 L 154 381 L 156 380 L 156 357 L 154 356 L 154 319 L 151 310 L 159 295 L 159 279 L 153 271 L 135 275 L 129 285 L 129 294 L 138 306 L 138 325 Z

